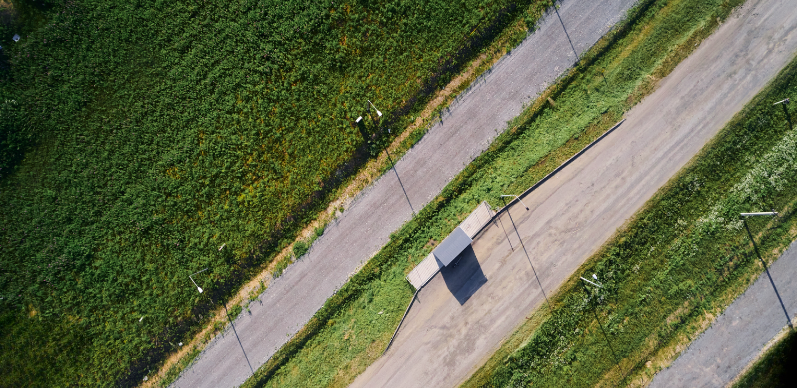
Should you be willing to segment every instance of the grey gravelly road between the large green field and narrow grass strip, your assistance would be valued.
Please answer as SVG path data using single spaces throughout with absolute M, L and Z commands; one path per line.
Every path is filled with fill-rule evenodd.
M 232 331 L 217 336 L 172 386 L 227 387 L 245 382 L 251 374 L 247 359 L 255 369 L 265 363 L 360 263 L 387 243 L 390 233 L 410 220 L 413 210 L 430 202 L 489 146 L 524 102 L 575 62 L 574 49 L 581 53 L 594 45 L 634 2 L 560 2 L 563 22 L 556 14 L 548 17 L 463 93 L 442 123 L 398 161 L 397 173 L 388 172 L 363 190 L 308 254 L 269 285 L 260 296 L 262 302 L 250 305 L 251 314 L 235 321 L 238 338 Z

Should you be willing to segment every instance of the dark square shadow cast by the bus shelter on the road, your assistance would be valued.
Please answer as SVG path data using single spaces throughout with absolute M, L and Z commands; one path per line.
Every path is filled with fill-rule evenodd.
M 441 268 L 440 274 L 446 282 L 446 287 L 451 295 L 457 298 L 460 306 L 487 283 L 487 277 L 481 271 L 476 253 L 473 252 L 473 247 L 470 245 L 454 259 L 452 265 Z

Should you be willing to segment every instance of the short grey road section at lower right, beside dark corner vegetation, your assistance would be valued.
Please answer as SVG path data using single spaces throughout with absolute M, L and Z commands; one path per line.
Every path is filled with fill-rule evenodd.
M 787 327 L 786 313 L 797 312 L 797 243 L 762 273 L 747 291 L 717 317 L 669 368 L 650 384 L 657 387 L 726 386 L 736 378 L 764 345 Z M 781 305 L 781 301 L 783 305 Z

